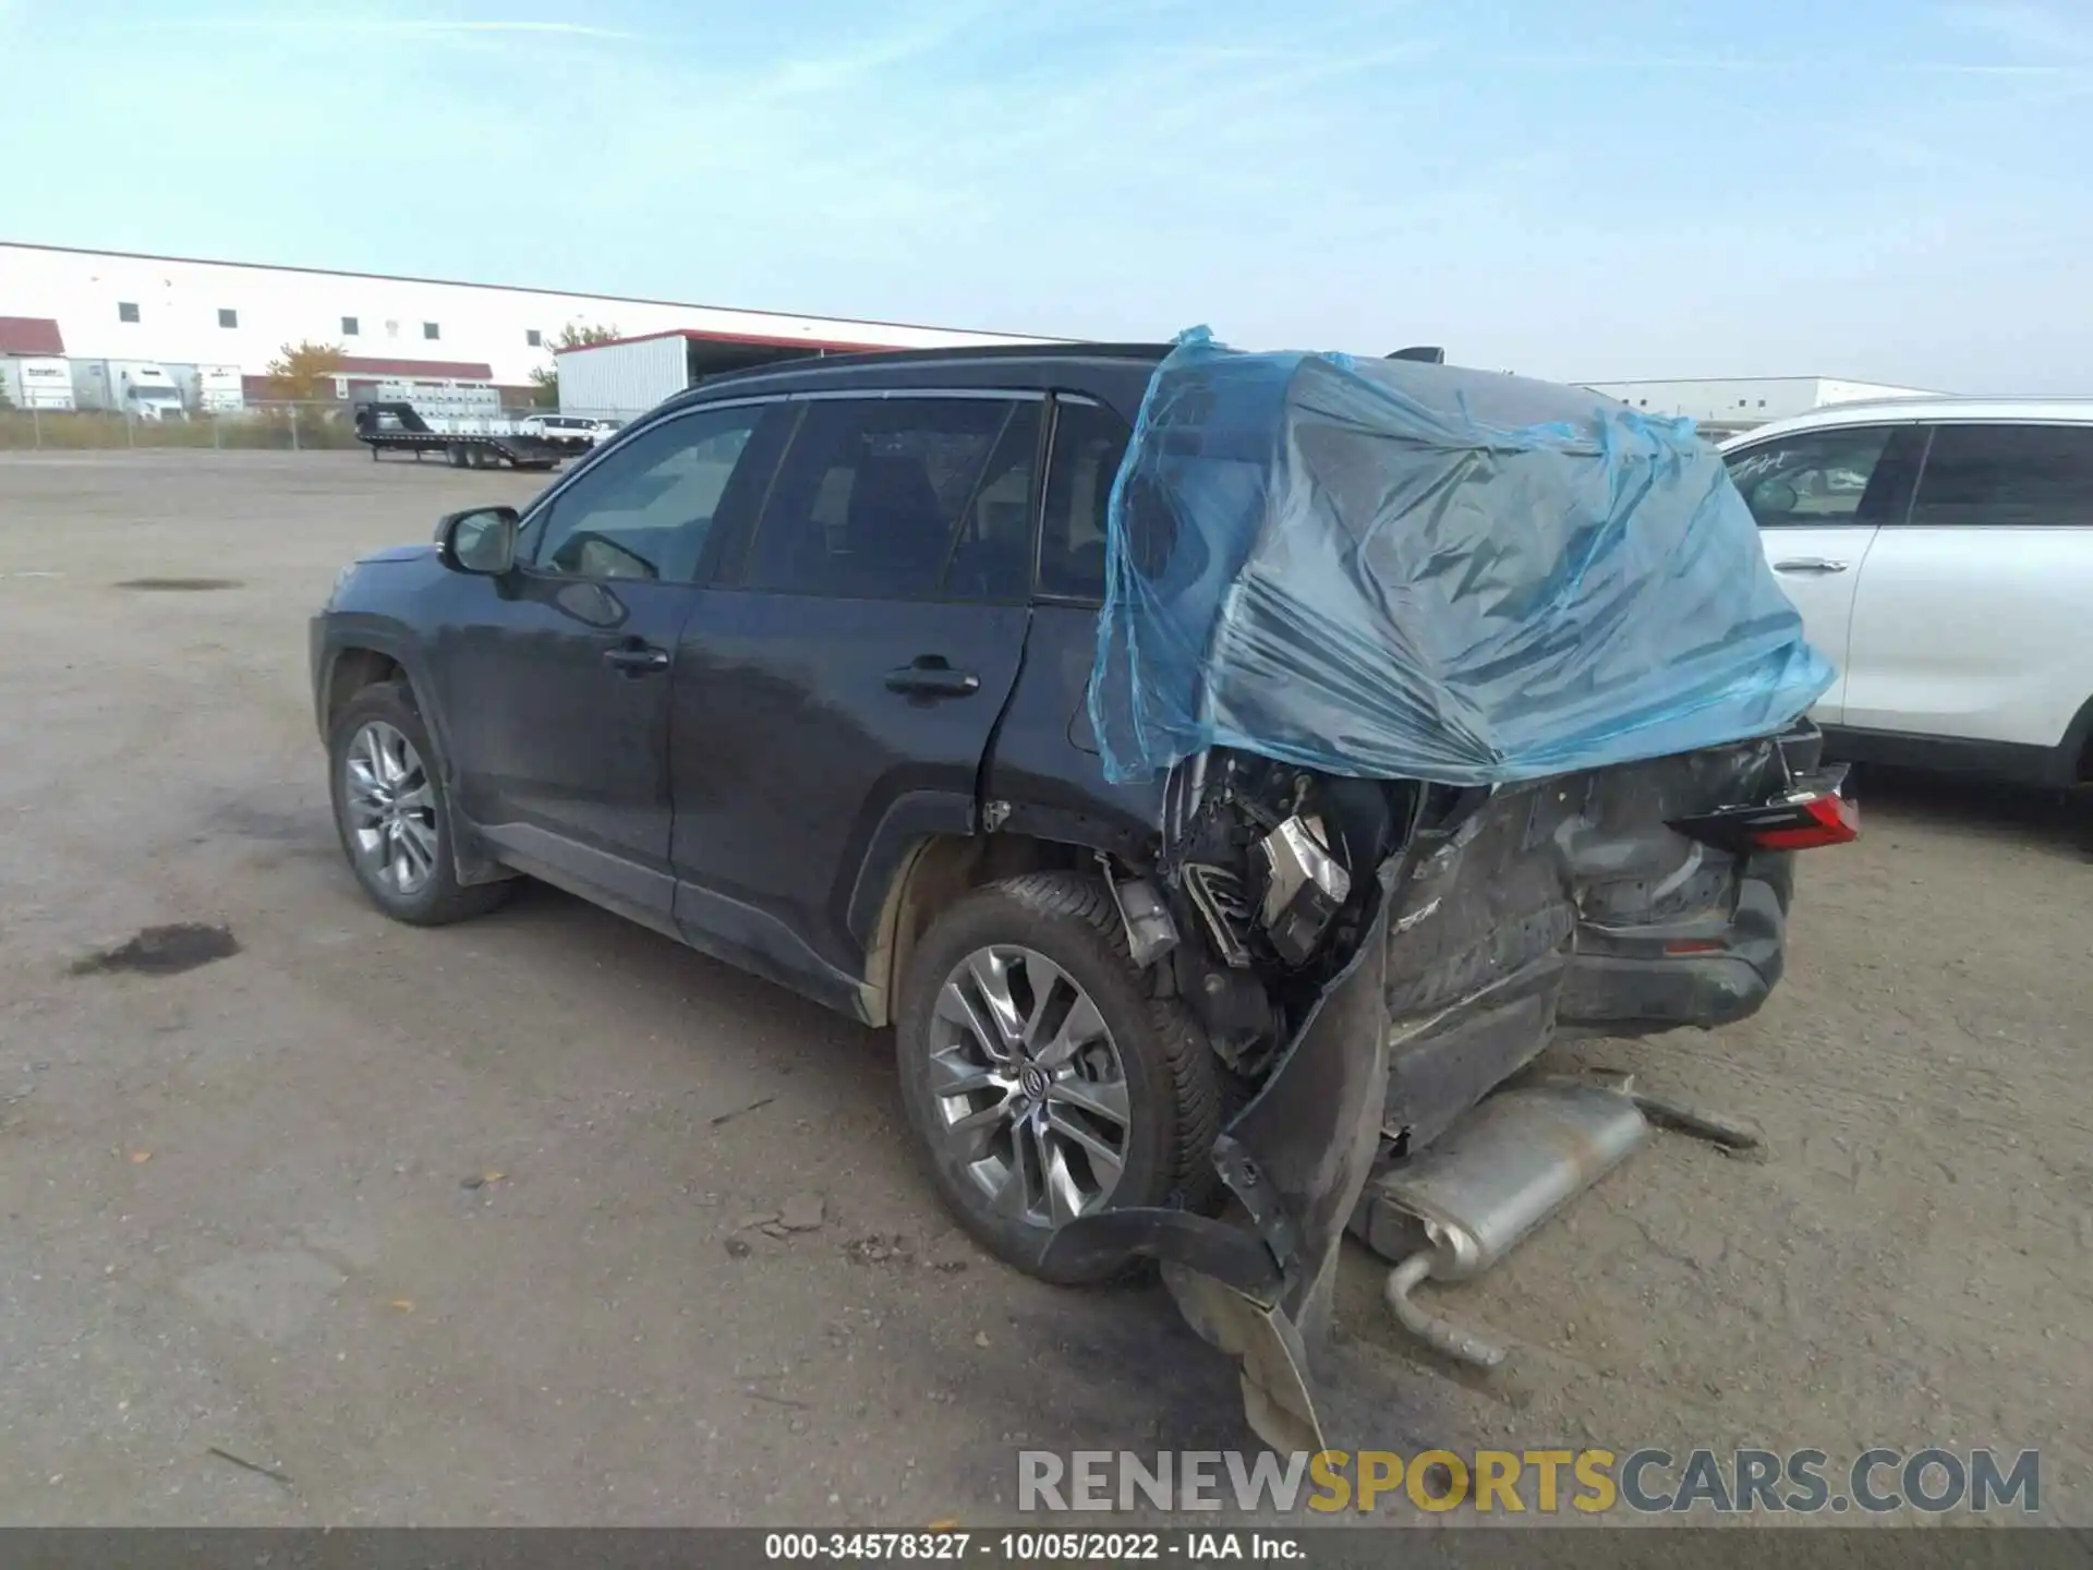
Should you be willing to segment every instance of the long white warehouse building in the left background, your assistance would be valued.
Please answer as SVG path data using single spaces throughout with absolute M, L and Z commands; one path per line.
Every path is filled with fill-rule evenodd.
M 77 381 L 50 373 L 48 362 L 65 358 L 149 366 L 182 385 L 209 383 L 203 371 L 218 373 L 218 381 L 232 371 L 245 398 L 257 400 L 272 396 L 270 360 L 287 343 L 310 341 L 341 350 L 337 398 L 352 398 L 366 381 L 408 379 L 494 385 L 523 402 L 534 391 L 532 373 L 553 368 L 553 343 L 569 324 L 624 337 L 682 333 L 728 358 L 735 345 L 774 356 L 797 345 L 933 350 L 1034 341 L 672 299 L 0 243 L 0 360 L 46 362 L 27 381 L 52 389 Z M 25 381 L 21 371 L 15 366 L 4 381 L 8 389 Z

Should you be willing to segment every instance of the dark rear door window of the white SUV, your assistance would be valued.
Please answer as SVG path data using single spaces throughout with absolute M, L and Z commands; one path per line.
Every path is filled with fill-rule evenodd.
M 1911 521 L 1930 528 L 2093 528 L 2093 425 L 1942 425 Z

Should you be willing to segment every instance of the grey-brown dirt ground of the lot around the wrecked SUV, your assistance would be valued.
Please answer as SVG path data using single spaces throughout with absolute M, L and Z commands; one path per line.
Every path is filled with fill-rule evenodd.
M 1155 1287 L 946 1223 L 885 1036 L 550 890 L 442 932 L 358 896 L 306 618 L 538 484 L 0 458 L 0 1522 L 990 1520 L 1019 1446 L 1245 1444 Z M 1354 1250 L 1360 1442 L 2039 1449 L 2093 1524 L 2093 867 L 2041 798 L 1863 802 L 1758 1019 L 1557 1051 L 1769 1160 L 1660 1135 L 1436 1294 L 1517 1344 L 1492 1375 L 1402 1346 Z M 73 973 L 174 921 L 239 952 Z M 818 1227 L 735 1231 L 795 1195 Z

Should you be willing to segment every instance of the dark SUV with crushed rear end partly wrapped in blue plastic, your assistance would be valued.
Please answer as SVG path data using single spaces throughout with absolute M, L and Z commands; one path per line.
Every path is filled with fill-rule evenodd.
M 869 354 L 714 379 L 521 513 L 458 513 L 433 544 L 350 567 L 312 622 L 314 695 L 341 844 L 387 915 L 456 921 L 540 877 L 892 1026 L 927 1172 L 973 1237 L 1065 1283 L 1162 1260 L 1241 1359 L 1258 1430 L 1291 1442 L 1314 1438 L 1302 1327 L 1375 1164 L 1430 1149 L 1559 1032 L 1758 1009 L 1781 975 L 1792 850 L 1850 837 L 1852 808 L 1819 768 L 1806 699 L 1716 745 L 1672 745 L 1689 733 L 1666 726 L 1702 712 L 1672 705 L 1647 756 L 1584 766 L 1492 739 L 1499 722 L 1517 739 L 1520 703 L 1465 676 L 1396 682 L 1411 697 L 1369 693 L 1360 712 L 1394 703 L 1482 758 L 1396 768 L 1367 741 L 1346 752 L 1379 735 L 1365 720 L 1289 739 L 1285 716 L 1258 724 L 1279 699 L 1220 676 L 1172 689 L 1174 670 L 1224 674 L 1252 645 L 1298 641 L 1262 670 L 1291 657 L 1310 687 L 1346 670 L 1333 691 L 1363 693 L 1383 664 L 1446 672 L 1478 641 L 1430 657 L 1406 638 L 1346 659 L 1316 645 L 1331 613 L 1270 592 L 1310 569 L 1258 565 L 1306 555 L 1310 523 L 1258 513 L 1279 557 L 1224 548 L 1243 509 L 1275 507 L 1268 475 L 1210 486 L 1130 461 L 1136 423 L 1141 440 L 1176 429 L 1155 406 L 1168 354 Z M 1381 375 L 1411 402 L 1471 394 L 1471 373 Z M 1201 431 L 1220 429 L 1224 379 L 1193 394 Z M 1386 475 L 1360 465 L 1396 448 L 1316 440 L 1231 463 L 1256 473 L 1279 452 L 1314 471 L 1314 496 L 1352 486 L 1388 507 Z M 1434 494 L 1404 502 L 1419 530 L 1453 517 Z M 1580 586 L 1605 571 L 1593 540 L 1566 546 L 1589 546 Z M 1371 567 L 1373 548 L 1331 561 Z M 1417 605 L 1448 574 L 1524 571 L 1517 553 L 1480 559 L 1442 542 L 1402 571 Z M 1245 597 L 1279 609 L 1245 622 Z M 1218 607 L 1212 626 L 1168 620 L 1195 601 Z M 1206 630 L 1166 636 L 1187 626 Z M 1532 659 L 1559 666 L 1551 638 Z M 1513 645 L 1490 670 L 1528 657 Z M 1111 661 L 1134 710 L 1113 703 Z M 1563 687 L 1582 703 L 1610 680 Z M 1170 749 L 1164 699 L 1208 726 L 1197 745 Z M 1122 760 L 1122 722 L 1166 766 Z

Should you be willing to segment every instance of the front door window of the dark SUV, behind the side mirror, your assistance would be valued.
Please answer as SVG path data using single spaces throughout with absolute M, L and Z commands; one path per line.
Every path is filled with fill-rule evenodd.
M 559 492 L 540 519 L 534 561 L 567 578 L 687 584 L 762 408 L 661 421 Z

